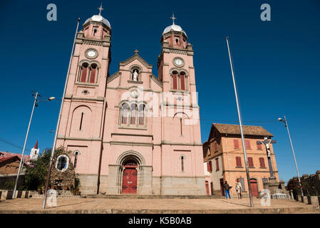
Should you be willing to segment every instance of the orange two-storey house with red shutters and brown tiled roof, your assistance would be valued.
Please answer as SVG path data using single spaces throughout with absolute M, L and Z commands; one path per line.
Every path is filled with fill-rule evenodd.
M 263 183 L 268 182 L 270 172 L 267 149 L 257 141 L 270 140 L 273 135 L 261 126 L 243 126 L 243 129 L 252 195 L 258 196 L 264 188 Z M 206 176 L 207 192 L 224 195 L 223 183 L 227 180 L 233 186 L 230 193 L 235 194 L 234 185 L 239 178 L 246 193 L 248 182 L 239 125 L 212 123 L 209 138 L 202 148 L 205 166 L 210 173 L 210 178 Z M 272 170 L 279 181 L 272 145 L 270 152 Z

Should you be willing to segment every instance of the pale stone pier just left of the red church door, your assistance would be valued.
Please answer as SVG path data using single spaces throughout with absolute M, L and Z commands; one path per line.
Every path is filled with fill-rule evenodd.
M 120 165 L 109 165 L 108 185 L 106 194 L 120 194 Z

